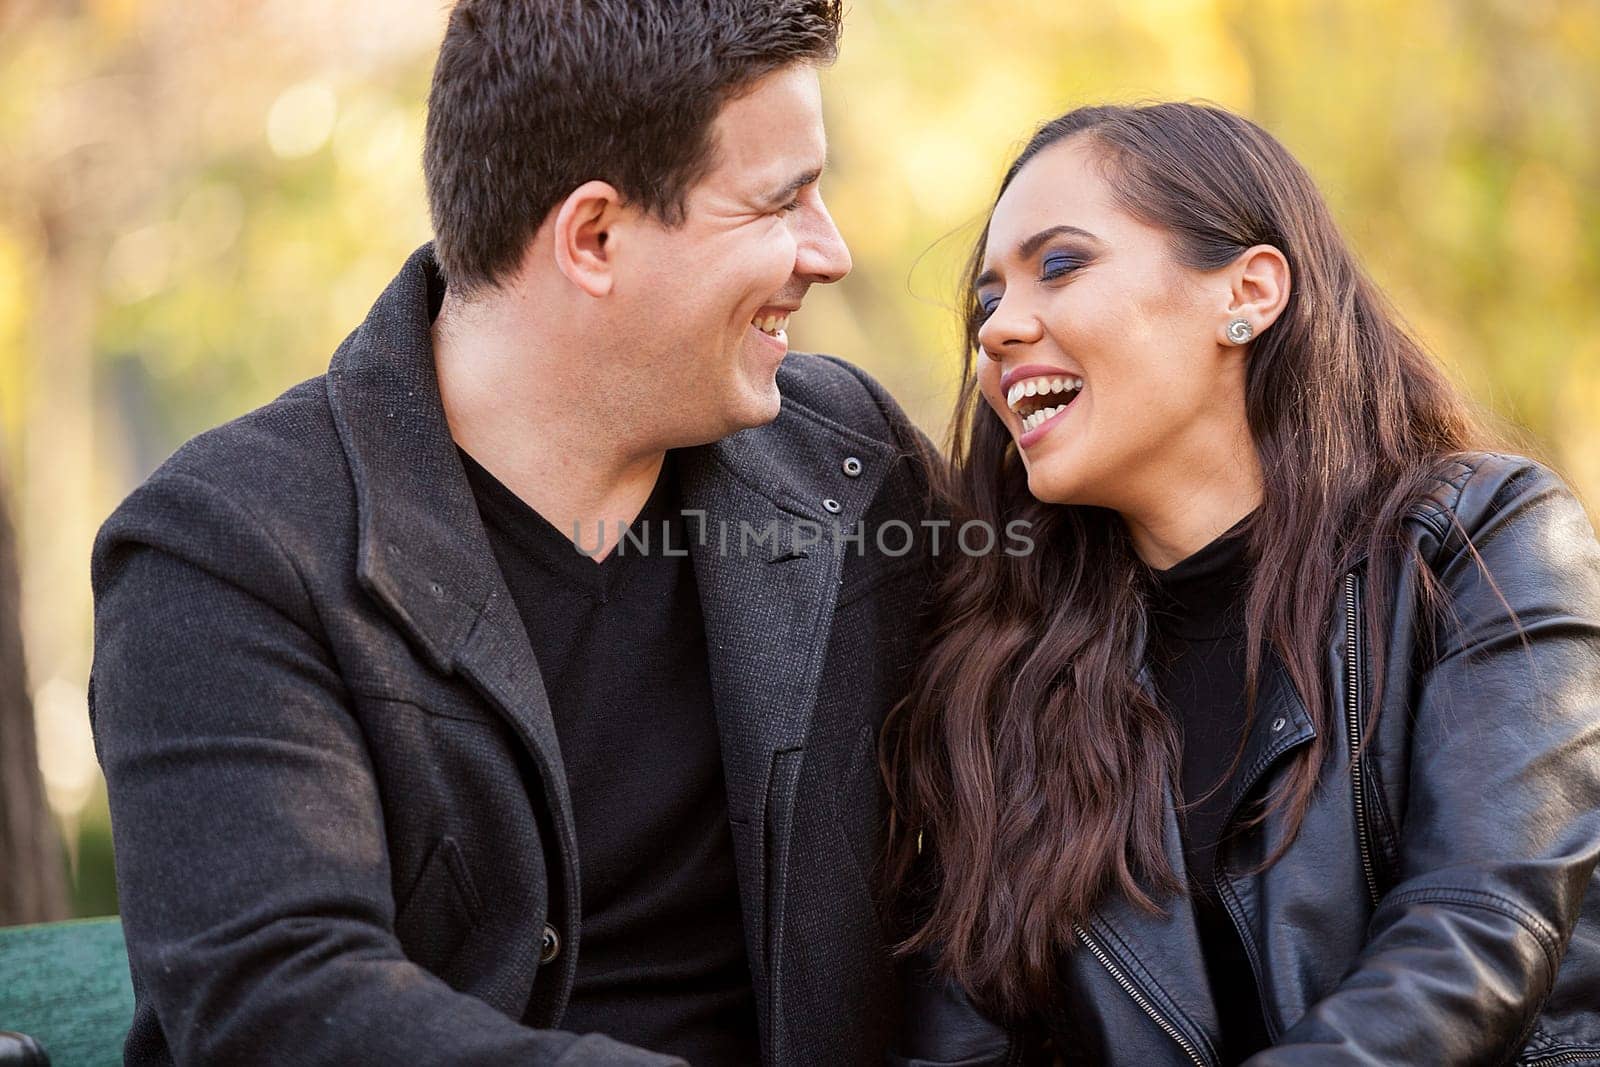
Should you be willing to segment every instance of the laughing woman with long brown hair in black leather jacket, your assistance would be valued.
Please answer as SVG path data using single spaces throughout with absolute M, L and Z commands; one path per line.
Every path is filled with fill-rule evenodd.
M 885 737 L 904 1057 L 1600 1064 L 1600 547 L 1304 170 L 1075 110 L 970 307 L 952 507 L 1037 547 Z

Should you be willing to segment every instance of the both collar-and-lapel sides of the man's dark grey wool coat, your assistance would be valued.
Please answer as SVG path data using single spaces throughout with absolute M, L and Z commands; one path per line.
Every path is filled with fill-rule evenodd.
M 430 325 L 442 299 L 426 245 L 328 370 L 357 498 L 357 577 L 437 670 L 469 678 L 533 750 L 576 901 L 571 803 L 549 699 L 440 400 Z M 786 381 L 794 381 L 787 366 L 781 390 Z M 840 474 L 848 456 L 861 461 L 854 477 Z M 757 920 L 752 963 L 762 947 L 766 833 L 787 825 L 794 803 L 768 803 L 773 757 L 805 745 L 843 566 L 829 541 L 806 541 L 813 530 L 854 526 L 891 459 L 888 445 L 787 395 L 774 422 L 678 458 L 683 506 L 704 514 L 706 536 L 690 552 L 747 928 Z M 770 539 L 741 544 L 746 528 Z

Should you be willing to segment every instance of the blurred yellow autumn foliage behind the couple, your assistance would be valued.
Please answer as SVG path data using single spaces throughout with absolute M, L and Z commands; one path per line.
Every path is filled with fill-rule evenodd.
M 427 240 L 445 8 L 0 2 L 0 469 L 80 913 L 115 907 L 85 712 L 94 530 L 184 438 L 320 373 Z M 1600 5 L 850 8 L 824 190 L 856 270 L 813 294 L 797 347 L 864 365 L 936 432 L 958 264 L 1030 128 L 1210 99 L 1306 162 L 1418 333 L 1600 502 Z

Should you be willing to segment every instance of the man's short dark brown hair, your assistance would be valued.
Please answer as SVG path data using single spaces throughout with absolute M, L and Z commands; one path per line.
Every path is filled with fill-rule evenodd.
M 723 102 L 832 62 L 840 16 L 840 0 L 459 0 L 422 152 L 450 286 L 496 285 L 586 181 L 680 222 Z

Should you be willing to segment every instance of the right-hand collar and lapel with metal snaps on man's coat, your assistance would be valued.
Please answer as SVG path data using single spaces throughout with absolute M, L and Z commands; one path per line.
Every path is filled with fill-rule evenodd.
M 779 373 L 779 387 L 784 379 Z M 862 462 L 858 477 L 840 474 L 848 456 Z M 683 506 L 704 514 L 704 536 L 690 553 L 706 619 L 746 944 L 768 1003 L 762 976 L 779 958 L 784 896 L 773 870 L 781 870 L 787 848 L 798 758 L 843 569 L 832 531 L 861 522 L 891 456 L 888 445 L 784 400 L 774 422 L 682 458 Z M 826 510 L 824 499 L 838 510 Z M 762 544 L 754 534 L 763 536 Z

